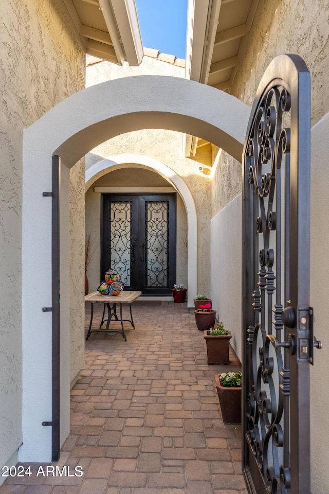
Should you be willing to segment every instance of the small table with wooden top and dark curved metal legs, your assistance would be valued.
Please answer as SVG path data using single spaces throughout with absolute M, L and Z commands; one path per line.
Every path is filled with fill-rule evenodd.
M 89 329 L 88 329 L 88 334 L 86 340 L 88 340 L 89 336 L 91 333 L 94 331 L 101 331 L 101 332 L 117 332 L 122 334 L 122 337 L 124 338 L 125 341 L 127 341 L 124 333 L 124 327 L 123 327 L 123 321 L 128 321 L 131 323 L 133 328 L 135 329 L 135 324 L 133 320 L 133 314 L 132 314 L 132 302 L 137 300 L 137 298 L 141 295 L 142 292 L 129 292 L 129 291 L 123 291 L 119 295 L 113 296 L 113 295 L 101 295 L 99 292 L 93 292 L 89 293 L 84 297 L 85 302 L 89 302 L 92 304 L 92 312 L 90 314 L 90 324 L 89 324 Z M 92 330 L 92 324 L 93 324 L 93 315 L 94 315 L 94 304 L 104 304 L 104 310 L 103 310 L 103 315 L 102 315 L 102 321 L 99 326 L 99 329 L 93 329 Z M 112 317 L 116 321 L 119 321 L 118 315 L 117 315 L 117 305 L 120 305 L 120 322 L 121 322 L 121 330 L 120 329 L 109 329 L 109 323 L 112 320 Z M 129 304 L 130 308 L 130 316 L 131 319 L 122 319 L 122 305 L 123 304 Z M 104 320 L 104 314 L 105 314 L 105 306 L 107 307 L 107 319 Z M 103 324 L 106 322 L 106 327 L 102 329 Z

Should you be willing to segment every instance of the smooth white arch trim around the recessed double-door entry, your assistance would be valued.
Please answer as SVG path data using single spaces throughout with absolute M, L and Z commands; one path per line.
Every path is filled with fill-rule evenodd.
M 169 166 L 150 156 L 141 156 L 139 154 L 111 156 L 107 160 L 95 163 L 95 165 L 86 170 L 86 189 L 92 186 L 101 171 L 109 171 L 112 167 L 124 163 L 144 165 L 151 170 L 157 171 L 176 188 L 185 204 L 188 220 L 188 306 L 193 307 L 193 293 L 197 286 L 197 236 L 195 234 L 197 231 L 197 217 L 191 192 L 184 180 Z

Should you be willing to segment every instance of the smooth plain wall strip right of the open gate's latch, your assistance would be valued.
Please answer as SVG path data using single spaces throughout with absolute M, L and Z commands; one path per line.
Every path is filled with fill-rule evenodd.
M 329 215 L 329 113 L 312 129 L 311 139 L 311 202 L 310 202 L 310 305 L 314 307 L 314 334 L 323 344 L 314 350 L 314 366 L 310 368 L 311 400 L 311 468 L 312 493 L 329 491 L 329 427 L 327 411 L 329 390 L 326 376 L 329 373 L 329 262 L 327 250 L 329 231 L 325 227 Z

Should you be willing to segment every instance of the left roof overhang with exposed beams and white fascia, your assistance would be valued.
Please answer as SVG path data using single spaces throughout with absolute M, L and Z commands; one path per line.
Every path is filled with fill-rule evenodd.
M 139 65 L 143 45 L 134 0 L 64 0 L 89 55 Z

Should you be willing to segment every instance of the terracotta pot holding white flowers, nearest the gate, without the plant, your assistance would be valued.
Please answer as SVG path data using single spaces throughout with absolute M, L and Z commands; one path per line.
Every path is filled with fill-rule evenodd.
M 220 375 L 216 374 L 215 381 L 223 422 L 225 424 L 241 424 L 241 387 L 222 386 Z

